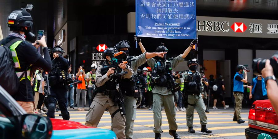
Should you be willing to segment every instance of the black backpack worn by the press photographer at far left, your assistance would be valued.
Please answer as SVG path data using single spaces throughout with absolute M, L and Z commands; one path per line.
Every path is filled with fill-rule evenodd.
M 12 53 L 10 50 L 10 46 L 15 42 L 22 40 L 19 38 L 13 39 L 7 44 L 0 46 L 0 85 L 10 94 L 15 95 L 19 89 L 19 81 L 23 77 L 24 73 L 20 75 L 18 78 L 15 73 L 15 63 L 12 58 Z M 2 44 L 2 41 L 0 41 Z

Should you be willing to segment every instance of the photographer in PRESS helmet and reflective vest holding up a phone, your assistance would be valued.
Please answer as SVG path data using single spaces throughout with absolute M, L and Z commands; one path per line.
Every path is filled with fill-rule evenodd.
M 15 94 L 11 94 L 15 100 L 19 103 L 21 107 L 27 113 L 34 112 L 34 97 L 31 86 L 30 72 L 31 69 L 37 69 L 38 67 L 44 69 L 45 71 L 51 70 L 51 59 L 48 53 L 48 48 L 45 42 L 45 36 L 40 40 L 36 41 L 36 36 L 31 32 L 33 19 L 31 15 L 27 12 L 32 10 L 28 4 L 26 9 L 15 10 L 8 16 L 8 27 L 12 31 L 8 37 L 0 41 L 0 46 L 5 45 L 13 53 L 12 60 L 15 64 L 15 72 L 19 79 L 19 88 Z M 31 44 L 31 43 L 33 44 Z M 37 42 L 39 44 L 37 44 Z M 40 55 L 36 48 L 42 46 L 42 51 L 44 53 L 44 58 Z M 15 54 L 15 55 L 14 55 Z M 10 71 L 1 71 L 0 77 L 9 76 Z M 5 78 L 2 79 L 5 79 Z M 1 86 L 11 93 L 10 90 L 14 88 L 6 88 L 6 83 L 15 81 L 9 81 L 12 78 L 6 78 L 3 82 L 1 81 Z

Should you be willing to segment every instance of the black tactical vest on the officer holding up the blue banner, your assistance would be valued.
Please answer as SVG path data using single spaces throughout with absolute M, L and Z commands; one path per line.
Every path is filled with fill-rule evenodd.
M 161 60 L 155 60 L 154 70 L 152 72 L 152 78 L 159 77 L 159 82 L 154 82 L 154 86 L 168 86 L 168 81 L 173 80 L 172 76 L 172 65 L 170 61 L 166 64 Z

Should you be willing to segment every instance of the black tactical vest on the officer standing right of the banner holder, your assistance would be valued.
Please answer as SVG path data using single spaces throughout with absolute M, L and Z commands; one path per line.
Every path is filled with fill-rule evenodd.
M 184 90 L 187 95 L 200 95 L 201 76 L 198 71 L 187 72 L 187 80 L 184 82 Z

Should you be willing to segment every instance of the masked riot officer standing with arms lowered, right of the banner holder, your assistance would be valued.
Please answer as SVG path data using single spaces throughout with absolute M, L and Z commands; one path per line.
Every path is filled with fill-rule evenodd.
M 204 86 L 201 82 L 201 74 L 197 71 L 198 64 L 199 63 L 196 58 L 187 61 L 187 66 L 189 70 L 183 72 L 182 74 L 184 78 L 185 95 L 188 95 L 188 106 L 186 109 L 186 124 L 188 126 L 188 132 L 195 133 L 195 130 L 193 129 L 193 112 L 194 108 L 196 108 L 201 120 L 201 132 L 211 133 L 212 131 L 208 130 L 208 128 L 206 127 L 206 124 L 208 123 L 208 118 L 205 113 L 206 107 L 202 99 L 204 97 Z M 179 80 L 176 81 L 178 82 Z

